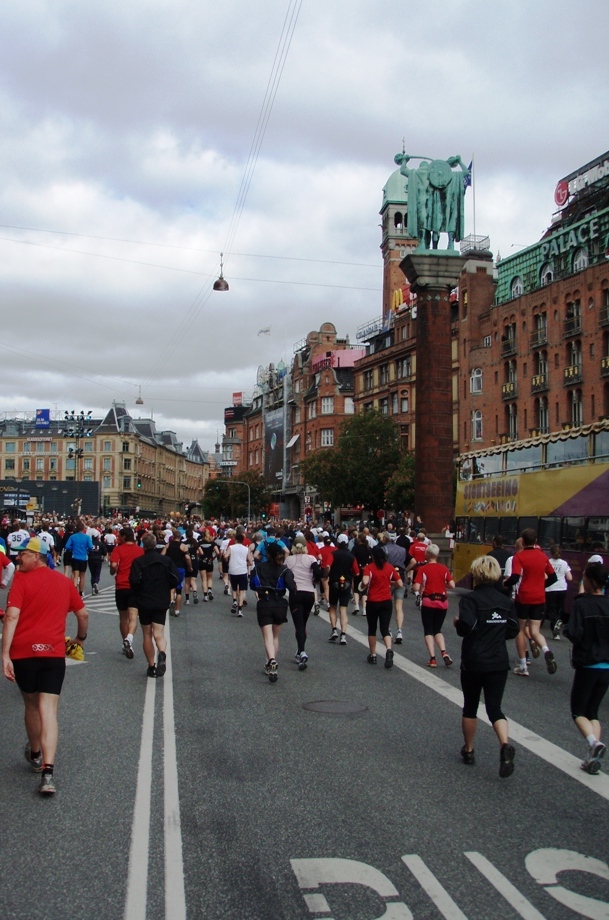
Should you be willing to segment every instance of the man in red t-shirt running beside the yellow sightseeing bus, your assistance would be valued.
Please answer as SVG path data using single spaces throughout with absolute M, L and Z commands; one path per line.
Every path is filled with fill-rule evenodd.
M 506 588 L 511 588 L 512 585 L 518 584 L 515 604 L 520 624 L 520 632 L 516 636 L 519 664 L 514 673 L 520 677 L 529 676 L 526 659 L 527 637 L 525 633 L 528 624 L 531 639 L 544 654 L 548 674 L 554 674 L 556 672 L 556 661 L 543 637 L 541 624 L 546 612 L 546 588 L 557 581 L 556 572 L 546 554 L 536 545 L 537 534 L 534 530 L 531 528 L 523 530 L 521 539 L 523 548 L 513 557 L 512 574 L 505 581 Z

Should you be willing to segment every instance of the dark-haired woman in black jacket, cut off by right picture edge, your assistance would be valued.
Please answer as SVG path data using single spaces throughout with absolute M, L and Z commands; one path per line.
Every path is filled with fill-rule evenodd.
M 586 566 L 584 594 L 575 599 L 573 613 L 563 629 L 573 643 L 571 715 L 588 746 L 581 768 L 592 776 L 600 771 L 605 756 L 598 710 L 609 687 L 609 597 L 603 595 L 606 584 L 604 565 L 593 562 Z

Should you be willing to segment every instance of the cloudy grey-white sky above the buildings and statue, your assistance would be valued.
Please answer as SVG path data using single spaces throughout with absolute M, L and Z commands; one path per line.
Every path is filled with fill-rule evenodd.
M 258 365 L 380 315 L 403 138 L 475 154 L 495 254 L 539 238 L 609 147 L 608 25 L 606 0 L 7 0 L 0 411 L 141 387 L 213 449 Z

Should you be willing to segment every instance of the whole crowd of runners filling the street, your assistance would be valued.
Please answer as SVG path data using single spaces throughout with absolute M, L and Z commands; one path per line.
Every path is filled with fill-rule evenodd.
M 167 668 L 166 616 L 179 617 L 191 604 L 212 603 L 217 567 L 235 617 L 243 616 L 248 589 L 254 592 L 264 671 L 275 683 L 279 635 L 288 613 L 295 632 L 294 661 L 304 671 L 309 662 L 307 623 L 322 606 L 329 615 L 331 643 L 346 645 L 349 616 L 361 615 L 367 621 L 367 663 L 377 665 L 380 634 L 384 667 L 391 669 L 394 645 L 403 642 L 404 600 L 409 591 L 420 608 L 427 667 L 436 668 L 440 659 L 451 667 L 453 658 L 443 630 L 448 593 L 455 582 L 441 556 L 440 547 L 428 538 L 420 521 L 414 529 L 392 523 L 377 529 L 312 526 L 303 521 L 245 525 L 213 520 L 80 518 L 40 520 L 26 528 L 20 521 L 5 519 L 0 525 L 1 587 L 7 587 L 11 579 L 12 585 L 4 617 L 3 670 L 9 680 L 17 682 L 24 697 L 25 755 L 41 773 L 40 791 L 55 791 L 66 616 L 72 611 L 78 623 L 68 654 L 82 655 L 88 623 L 84 604 L 87 572 L 91 591 L 97 594 L 102 566 L 109 565 L 115 578 L 120 650 L 127 659 L 134 658 L 139 622 L 147 675 L 162 678 Z M 571 711 L 586 739 L 581 766 L 591 775 L 598 773 L 605 754 L 598 711 L 609 687 L 609 597 L 602 557 L 592 556 L 588 561 L 568 622 L 569 566 L 558 548 L 548 558 L 537 546 L 534 531 L 522 533 L 514 553 L 497 538 L 491 552 L 472 564 L 472 579 L 473 590 L 461 595 L 459 614 L 453 620 L 463 640 L 463 763 L 475 763 L 473 742 L 484 692 L 500 744 L 500 776 L 513 772 L 515 751 L 501 709 L 510 668 L 507 642 L 516 641 L 516 675 L 529 676 L 531 655 L 543 655 L 548 673 L 554 674 L 556 660 L 541 631 L 547 614 L 552 640 L 560 641 L 563 634 L 573 643 Z

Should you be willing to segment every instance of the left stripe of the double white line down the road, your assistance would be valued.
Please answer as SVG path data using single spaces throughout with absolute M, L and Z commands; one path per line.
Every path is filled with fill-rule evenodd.
M 142 719 L 142 740 L 137 771 L 137 789 L 133 824 L 131 826 L 131 849 L 129 852 L 129 874 L 127 876 L 127 897 L 125 920 L 146 920 L 146 897 L 148 889 L 148 849 L 150 842 L 150 797 L 152 790 L 152 749 L 154 739 L 154 701 L 156 680 L 147 679 L 144 717 Z

